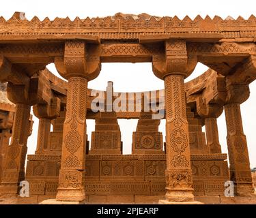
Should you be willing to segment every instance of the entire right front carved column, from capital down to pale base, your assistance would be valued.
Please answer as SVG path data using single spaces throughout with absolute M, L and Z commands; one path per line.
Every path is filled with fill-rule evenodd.
M 165 63 L 153 59 L 154 73 L 165 80 L 167 192 L 160 204 L 194 202 L 184 78 L 197 60 L 188 59 L 184 40 L 165 42 L 165 50 Z

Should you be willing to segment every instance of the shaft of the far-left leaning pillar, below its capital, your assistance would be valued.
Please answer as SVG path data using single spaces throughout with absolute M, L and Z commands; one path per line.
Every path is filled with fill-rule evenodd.
M 27 138 L 31 123 L 29 121 L 31 106 L 16 104 L 12 142 L 8 146 L 1 185 L 5 193 L 18 193 L 18 185 L 25 178 L 25 157 L 27 154 Z

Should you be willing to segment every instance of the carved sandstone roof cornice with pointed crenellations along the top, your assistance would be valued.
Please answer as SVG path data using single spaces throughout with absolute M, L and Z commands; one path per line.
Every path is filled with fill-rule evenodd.
M 227 17 L 197 16 L 191 19 L 175 17 L 158 17 L 148 14 L 122 14 L 104 18 L 25 18 L 24 13 L 15 12 L 12 18 L 0 17 L 0 40 L 66 40 L 70 38 L 86 39 L 98 43 L 99 40 L 155 40 L 169 37 L 185 37 L 191 40 L 208 38 L 255 37 L 256 18 L 250 16 L 244 20 Z M 154 36 L 154 37 L 153 37 Z M 25 38 L 24 38 L 25 37 Z M 153 39 L 152 39 L 153 37 Z

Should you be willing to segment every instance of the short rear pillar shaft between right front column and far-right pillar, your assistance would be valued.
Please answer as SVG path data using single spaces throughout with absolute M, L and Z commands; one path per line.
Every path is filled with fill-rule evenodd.
M 221 153 L 221 144 L 218 141 L 218 125 L 215 117 L 205 118 L 205 132 L 210 153 Z

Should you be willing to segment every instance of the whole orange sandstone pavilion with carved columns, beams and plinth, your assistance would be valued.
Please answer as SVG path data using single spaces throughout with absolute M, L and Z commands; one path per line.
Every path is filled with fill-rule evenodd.
M 253 194 L 240 104 L 256 78 L 255 35 L 255 16 L 180 20 L 118 13 L 72 21 L 27 20 L 15 12 L 10 20 L 1 17 L 0 81 L 7 84 L 1 84 L 0 194 L 18 195 L 23 180 L 38 201 L 55 198 L 56 203 L 200 204 L 195 196 L 223 197 L 229 180 L 236 196 Z M 128 97 L 134 93 L 123 93 L 123 104 L 139 104 L 139 111 L 93 110 L 95 90 L 87 84 L 105 62 L 152 63 L 156 77 L 165 81 L 156 100 L 150 96 L 165 105 L 165 144 L 160 120 L 144 110 L 143 100 Z M 184 83 L 198 62 L 208 71 Z M 49 63 L 68 82 L 49 72 Z M 102 101 L 112 107 L 106 97 Z M 39 119 L 38 142 L 25 169 L 31 106 Z M 223 110 L 229 168 L 216 123 Z M 87 119 L 96 121 L 90 150 Z M 117 119 L 139 119 L 131 155 L 122 155 Z

